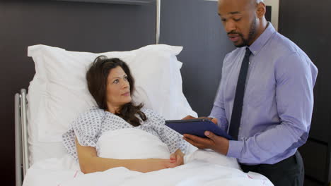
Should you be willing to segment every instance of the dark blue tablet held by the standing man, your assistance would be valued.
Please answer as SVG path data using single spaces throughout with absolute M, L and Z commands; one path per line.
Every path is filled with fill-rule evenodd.
M 199 137 L 207 137 L 204 135 L 205 131 L 213 132 L 215 135 L 225 137 L 228 140 L 232 140 L 232 137 L 225 131 L 221 130 L 217 125 L 211 122 L 209 119 L 192 119 L 192 120 L 165 120 L 165 125 L 173 130 L 177 131 L 181 135 L 189 134 Z

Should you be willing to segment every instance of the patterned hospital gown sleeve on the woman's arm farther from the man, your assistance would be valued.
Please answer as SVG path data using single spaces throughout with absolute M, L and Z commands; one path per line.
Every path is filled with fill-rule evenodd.
M 82 113 L 74 120 L 70 129 L 62 135 L 64 147 L 74 159 L 78 159 L 76 137 L 81 146 L 97 148 L 96 143 L 104 116 L 105 112 L 102 109 L 93 108 L 86 113 Z

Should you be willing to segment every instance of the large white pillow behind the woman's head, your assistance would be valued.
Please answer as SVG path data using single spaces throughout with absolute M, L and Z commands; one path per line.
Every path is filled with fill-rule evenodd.
M 35 77 L 28 89 L 30 144 L 61 142 L 62 134 L 79 113 L 96 106 L 86 85 L 86 71 L 97 56 L 121 58 L 136 81 L 133 100 L 143 103 L 166 119 L 197 116 L 182 93 L 176 55 L 181 46 L 144 46 L 134 51 L 100 54 L 66 51 L 52 46 L 28 47 L 35 62 Z M 32 154 L 33 155 L 33 151 Z

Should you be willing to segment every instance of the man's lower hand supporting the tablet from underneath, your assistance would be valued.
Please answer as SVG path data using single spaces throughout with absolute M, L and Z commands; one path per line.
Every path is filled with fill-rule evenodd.
M 226 138 L 214 135 L 213 132 L 209 131 L 204 132 L 204 135 L 208 138 L 184 134 L 183 139 L 199 149 L 213 149 L 220 154 L 228 154 L 229 142 Z

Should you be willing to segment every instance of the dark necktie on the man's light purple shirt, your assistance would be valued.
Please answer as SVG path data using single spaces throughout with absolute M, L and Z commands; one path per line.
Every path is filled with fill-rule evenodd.
M 245 82 L 248 73 L 248 63 L 250 61 L 250 54 L 252 54 L 252 52 L 247 47 L 245 57 L 243 58 L 243 63 L 241 63 L 241 68 L 240 68 L 240 73 L 236 88 L 236 97 L 233 103 L 230 129 L 228 130 L 228 134 L 231 135 L 234 140 L 238 140 L 238 132 L 240 127 L 241 113 L 243 111 L 243 97 L 245 92 Z

